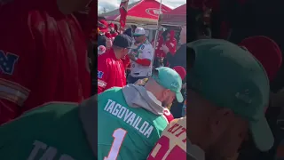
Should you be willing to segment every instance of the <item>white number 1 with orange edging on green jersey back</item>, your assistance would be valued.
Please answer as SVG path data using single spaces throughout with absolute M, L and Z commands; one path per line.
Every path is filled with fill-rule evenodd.
M 108 156 L 105 156 L 104 160 L 116 160 L 119 151 L 122 147 L 122 142 L 125 138 L 127 131 L 123 130 L 122 128 L 118 128 L 114 130 L 113 137 L 114 141 L 112 147 L 108 152 Z

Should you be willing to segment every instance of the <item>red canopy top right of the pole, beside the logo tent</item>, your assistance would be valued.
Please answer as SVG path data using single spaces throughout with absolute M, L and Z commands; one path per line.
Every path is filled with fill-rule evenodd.
M 170 12 L 162 13 L 160 21 L 162 25 L 186 25 L 186 4 L 183 4 Z

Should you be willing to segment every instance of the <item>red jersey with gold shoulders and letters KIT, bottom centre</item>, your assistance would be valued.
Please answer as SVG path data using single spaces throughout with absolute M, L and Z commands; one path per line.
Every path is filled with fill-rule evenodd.
M 147 160 L 177 159 L 186 160 L 186 117 L 171 121 L 147 158 Z

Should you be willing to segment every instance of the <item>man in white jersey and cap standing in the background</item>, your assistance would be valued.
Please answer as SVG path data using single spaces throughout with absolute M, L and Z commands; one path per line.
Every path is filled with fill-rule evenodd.
M 143 79 L 152 75 L 152 63 L 154 58 L 154 48 L 146 38 L 144 28 L 136 28 L 133 34 L 135 48 L 128 54 L 131 60 L 130 76 L 128 83 L 134 84 L 138 79 Z

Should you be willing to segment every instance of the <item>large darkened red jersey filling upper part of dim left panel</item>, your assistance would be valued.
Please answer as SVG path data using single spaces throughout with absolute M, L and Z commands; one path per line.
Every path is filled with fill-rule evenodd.
M 73 15 L 59 12 L 56 0 L 12 1 L 1 6 L 0 21 L 0 56 L 7 62 L 0 62 L 0 85 L 17 91 L 0 93 L 0 124 L 46 102 L 90 97 L 83 31 Z M 5 65 L 12 72 L 4 72 Z

